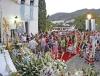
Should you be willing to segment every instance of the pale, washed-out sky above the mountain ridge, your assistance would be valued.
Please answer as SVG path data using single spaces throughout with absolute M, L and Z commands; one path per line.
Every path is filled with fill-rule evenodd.
M 57 12 L 70 13 L 84 8 L 100 8 L 100 0 L 45 0 L 45 2 L 48 15 Z

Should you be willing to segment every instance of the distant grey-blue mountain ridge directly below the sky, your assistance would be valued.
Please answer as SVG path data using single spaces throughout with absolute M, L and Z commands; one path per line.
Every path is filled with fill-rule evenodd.
M 78 15 L 85 14 L 87 12 L 100 13 L 100 9 L 81 9 L 81 10 L 77 10 L 77 11 L 72 12 L 72 13 L 63 13 L 63 12 L 55 13 L 49 17 L 49 20 L 50 21 L 68 20 L 68 19 L 72 19 Z

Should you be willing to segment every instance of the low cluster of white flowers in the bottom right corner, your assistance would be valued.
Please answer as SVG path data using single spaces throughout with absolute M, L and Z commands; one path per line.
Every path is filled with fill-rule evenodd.
M 86 68 L 80 67 L 76 70 L 75 65 L 73 71 L 69 72 L 69 76 L 98 76 L 100 73 L 94 69 L 93 64 L 89 64 Z

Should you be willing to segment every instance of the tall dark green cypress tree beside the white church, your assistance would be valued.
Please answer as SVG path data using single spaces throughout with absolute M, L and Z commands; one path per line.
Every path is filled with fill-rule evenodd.
M 39 0 L 38 29 L 46 30 L 46 4 L 45 0 Z

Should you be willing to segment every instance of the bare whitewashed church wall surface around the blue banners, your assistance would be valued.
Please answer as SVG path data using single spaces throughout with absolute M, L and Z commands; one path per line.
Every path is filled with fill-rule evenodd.
M 18 0 L 19 1 L 19 0 Z M 20 2 L 20 1 L 19 1 Z M 25 3 L 26 4 L 26 3 Z M 10 24 L 10 29 L 15 29 L 14 25 L 15 16 L 17 16 L 17 22 L 25 22 L 26 20 L 21 20 L 20 16 L 20 4 L 15 3 L 14 0 L 1 0 L 0 5 L 2 6 L 3 17 L 5 17 Z M 38 33 L 38 0 L 34 2 L 33 9 L 33 20 L 29 21 L 29 33 Z M 25 18 L 30 16 L 30 6 L 25 5 Z

